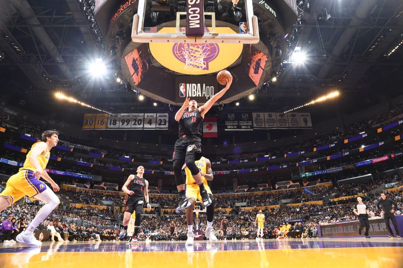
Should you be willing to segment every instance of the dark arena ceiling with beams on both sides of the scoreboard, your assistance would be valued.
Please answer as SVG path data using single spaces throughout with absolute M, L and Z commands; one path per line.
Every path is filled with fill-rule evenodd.
M 2 102 L 30 111 L 44 104 L 54 109 L 52 93 L 62 90 L 110 112 L 151 105 L 151 100 L 140 104 L 129 86 L 116 83 L 112 72 L 102 80 L 88 78 L 88 64 L 110 54 L 88 5 L 83 4 L 91 2 L 0 2 Z M 403 41 L 403 2 L 297 0 L 297 4 L 305 9 L 289 36 L 278 81 L 262 86 L 254 103 L 240 100 L 242 109 L 284 111 L 339 89 L 344 97 L 333 106 L 349 113 L 379 102 L 380 93 L 385 98 L 403 94 L 403 48 L 387 56 Z M 304 65 L 287 63 L 295 47 L 306 52 Z M 328 108 L 316 106 L 307 112 L 326 115 Z M 85 112 L 80 107 L 70 109 Z M 155 109 L 167 110 L 168 106 Z M 228 104 L 224 109 L 236 108 Z

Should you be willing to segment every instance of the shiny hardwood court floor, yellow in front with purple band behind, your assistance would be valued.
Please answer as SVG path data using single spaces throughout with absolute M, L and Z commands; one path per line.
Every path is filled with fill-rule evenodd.
M 0 267 L 403 267 L 403 239 L 44 242 L 0 244 Z

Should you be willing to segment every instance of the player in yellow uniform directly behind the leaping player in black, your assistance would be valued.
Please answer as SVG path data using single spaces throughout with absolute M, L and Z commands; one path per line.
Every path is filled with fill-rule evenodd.
M 209 194 L 212 204 L 207 207 L 207 228 L 206 228 L 206 237 L 210 241 L 217 241 L 217 237 L 214 234 L 213 229 L 213 218 L 214 218 L 214 200 L 213 193 L 210 190 L 208 181 L 213 181 L 213 170 L 211 168 L 211 162 L 206 157 L 201 157 L 199 160 L 194 161 L 194 164 L 200 170 L 201 178 L 203 180 L 203 185 Z M 200 188 L 195 182 L 191 171 L 186 167 L 186 198 L 191 203 L 190 207 L 186 209 L 186 222 L 187 222 L 187 240 L 186 245 L 193 244 L 194 234 L 193 234 L 193 207 L 196 204 L 196 199 L 203 203 L 203 199 L 200 196 Z

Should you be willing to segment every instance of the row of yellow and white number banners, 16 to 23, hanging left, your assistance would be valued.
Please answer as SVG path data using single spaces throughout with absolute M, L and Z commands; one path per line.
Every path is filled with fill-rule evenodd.
M 168 129 L 167 113 L 85 114 L 83 130 Z

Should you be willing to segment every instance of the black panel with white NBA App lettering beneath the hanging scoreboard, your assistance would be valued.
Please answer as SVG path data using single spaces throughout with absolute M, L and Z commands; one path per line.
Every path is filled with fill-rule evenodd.
M 176 76 L 175 102 L 183 103 L 186 98 L 199 105 L 206 103 L 218 92 L 216 76 Z

